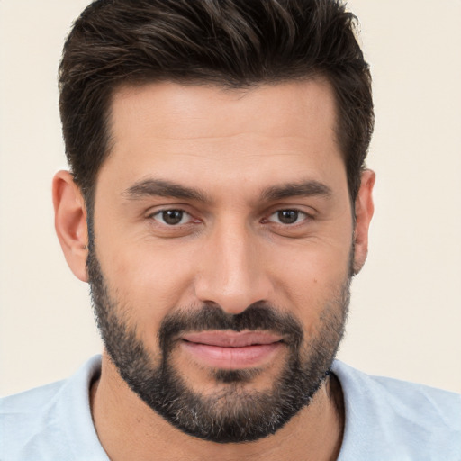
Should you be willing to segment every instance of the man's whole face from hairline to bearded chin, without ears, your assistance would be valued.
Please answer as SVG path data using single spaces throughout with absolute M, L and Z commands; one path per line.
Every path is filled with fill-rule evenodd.
M 348 307 L 330 87 L 127 87 L 112 123 L 88 276 L 113 364 L 187 433 L 274 432 L 324 380 Z

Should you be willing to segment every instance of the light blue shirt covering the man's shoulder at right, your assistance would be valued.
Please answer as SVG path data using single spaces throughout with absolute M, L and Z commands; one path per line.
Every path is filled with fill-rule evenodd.
M 461 395 L 366 375 L 339 361 L 332 371 L 341 383 L 346 411 L 343 446 L 350 454 L 340 457 L 341 461 L 354 456 L 369 460 L 459 459 Z M 359 453 L 362 457 L 357 457 Z

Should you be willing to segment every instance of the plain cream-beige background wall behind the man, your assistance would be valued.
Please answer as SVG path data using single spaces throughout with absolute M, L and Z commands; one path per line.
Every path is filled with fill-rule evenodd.
M 0 1 L 0 394 L 100 350 L 87 286 L 54 236 L 65 167 L 56 74 L 86 0 Z M 461 392 L 461 1 L 353 0 L 375 78 L 370 255 L 339 357 Z

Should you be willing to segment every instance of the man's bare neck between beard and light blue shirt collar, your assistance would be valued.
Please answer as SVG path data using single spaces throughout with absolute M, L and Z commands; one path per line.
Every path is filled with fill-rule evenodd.
M 112 461 L 332 461 L 342 441 L 342 402 L 339 381 L 330 375 L 312 402 L 276 434 L 249 443 L 220 444 L 186 435 L 158 416 L 124 383 L 106 355 L 101 377 L 91 389 L 95 429 Z

